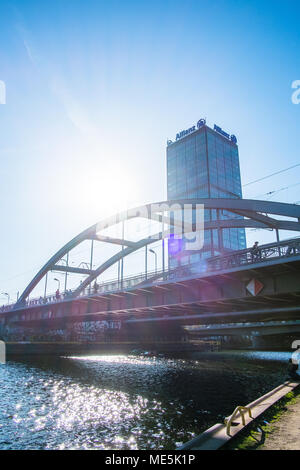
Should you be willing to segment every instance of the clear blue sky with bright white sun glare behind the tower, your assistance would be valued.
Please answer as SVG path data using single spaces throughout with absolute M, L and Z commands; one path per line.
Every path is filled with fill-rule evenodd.
M 300 163 L 299 18 L 298 1 L 2 0 L 0 292 L 104 215 L 165 199 L 166 140 L 202 117 L 237 136 L 243 184 Z M 300 201 L 297 183 L 300 167 L 244 197 Z

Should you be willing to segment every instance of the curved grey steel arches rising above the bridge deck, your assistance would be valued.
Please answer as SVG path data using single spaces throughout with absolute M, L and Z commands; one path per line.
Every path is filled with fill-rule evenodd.
M 38 273 L 34 276 L 20 296 L 15 306 L 20 307 L 24 305 L 26 299 L 37 286 L 37 284 L 47 275 L 49 271 L 53 270 L 86 275 L 86 279 L 81 282 L 72 292 L 73 297 L 79 296 L 87 286 L 89 286 L 108 268 L 115 265 L 119 261 L 122 261 L 126 256 L 134 253 L 135 251 L 143 247 L 147 247 L 157 240 L 162 240 L 168 236 L 170 232 L 172 233 L 172 229 L 174 229 L 174 227 L 182 225 L 182 217 L 175 217 L 174 214 L 180 214 L 180 211 L 183 211 L 186 206 L 188 206 L 189 209 L 195 211 L 201 210 L 201 208 L 202 210 L 216 210 L 217 219 L 205 221 L 203 227 L 204 230 L 217 229 L 221 232 L 222 229 L 226 228 L 265 228 L 275 230 L 277 233 L 277 239 L 278 230 L 300 232 L 300 206 L 296 204 L 251 199 L 215 198 L 169 200 L 155 204 L 139 206 L 101 220 L 66 243 L 46 262 L 40 271 L 38 271 Z M 221 211 L 230 213 L 231 217 L 221 218 Z M 171 214 L 173 214 L 173 217 Z M 285 219 L 283 219 L 283 217 Z M 161 224 L 161 230 L 149 237 L 141 238 L 137 241 L 126 240 L 124 239 L 124 236 L 122 238 L 114 238 L 103 233 L 101 234 L 101 232 L 110 227 L 116 226 L 118 224 L 124 224 L 125 222 L 137 218 L 158 222 Z M 167 228 L 165 229 L 165 227 Z M 195 231 L 193 224 L 188 225 L 187 229 L 189 232 Z M 90 269 L 71 267 L 68 266 L 67 263 L 66 266 L 58 264 L 60 261 L 62 261 L 62 258 L 73 248 L 77 247 L 86 240 L 101 241 L 108 244 L 119 245 L 121 249 L 117 254 L 108 257 L 106 261 L 97 266 L 96 269 L 92 269 L 92 263 L 90 264 Z

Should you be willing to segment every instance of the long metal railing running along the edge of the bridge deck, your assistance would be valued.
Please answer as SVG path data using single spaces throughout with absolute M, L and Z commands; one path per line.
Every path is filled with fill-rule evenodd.
M 118 292 L 138 285 L 143 286 L 167 280 L 176 280 L 178 278 L 185 276 L 189 277 L 194 274 L 199 275 L 206 272 L 217 272 L 225 269 L 262 263 L 269 259 L 293 257 L 297 255 L 300 255 L 300 238 L 262 245 L 258 246 L 256 249 L 246 248 L 233 253 L 222 254 L 212 258 L 203 259 L 197 263 L 180 266 L 172 270 L 147 271 L 147 273 L 143 272 L 135 276 L 124 277 L 123 280 L 108 280 L 98 284 L 96 288 L 94 286 L 87 287 L 81 293 L 81 296 L 89 297 L 91 295 Z M 71 298 L 73 298 L 73 291 L 69 289 L 59 294 L 56 293 L 50 294 L 46 297 L 29 299 L 22 307 L 18 308 L 61 302 Z M 0 313 L 14 310 L 14 307 L 15 304 L 2 306 L 0 307 Z

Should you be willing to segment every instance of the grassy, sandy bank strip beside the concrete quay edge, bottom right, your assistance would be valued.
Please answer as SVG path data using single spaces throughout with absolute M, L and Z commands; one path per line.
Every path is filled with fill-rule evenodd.
M 222 450 L 300 450 L 300 387 L 288 393 Z

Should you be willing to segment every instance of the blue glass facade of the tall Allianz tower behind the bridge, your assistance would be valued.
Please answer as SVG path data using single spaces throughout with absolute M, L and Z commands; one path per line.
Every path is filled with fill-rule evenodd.
M 167 146 L 168 199 L 241 198 L 238 146 L 203 125 L 199 130 Z M 240 216 L 236 216 L 237 218 Z M 206 209 L 205 220 L 233 218 L 225 210 Z M 201 252 L 169 253 L 170 268 L 246 248 L 245 229 L 205 230 Z

